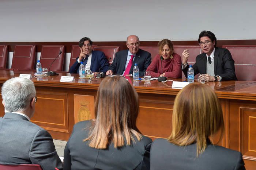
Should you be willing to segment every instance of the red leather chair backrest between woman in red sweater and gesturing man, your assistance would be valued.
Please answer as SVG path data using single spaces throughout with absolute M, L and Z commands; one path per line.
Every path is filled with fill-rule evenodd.
M 196 63 L 196 56 L 202 53 L 201 47 L 198 45 L 174 45 L 173 50 L 174 53 L 177 53 L 181 57 L 182 61 L 182 52 L 188 49 L 189 58 L 188 64 L 195 64 Z M 182 72 L 182 78 L 186 78 L 184 73 Z

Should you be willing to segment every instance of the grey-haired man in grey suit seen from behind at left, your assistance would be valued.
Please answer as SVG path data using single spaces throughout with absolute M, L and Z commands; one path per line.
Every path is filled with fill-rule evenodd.
M 35 112 L 35 86 L 26 78 L 7 80 L 1 89 L 5 115 L 0 117 L 0 164 L 39 164 L 62 170 L 52 136 L 30 122 Z

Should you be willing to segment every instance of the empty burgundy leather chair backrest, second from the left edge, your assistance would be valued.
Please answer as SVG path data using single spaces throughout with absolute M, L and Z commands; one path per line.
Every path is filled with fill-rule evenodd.
M 12 57 L 12 69 L 33 70 L 35 66 L 35 45 L 16 45 Z

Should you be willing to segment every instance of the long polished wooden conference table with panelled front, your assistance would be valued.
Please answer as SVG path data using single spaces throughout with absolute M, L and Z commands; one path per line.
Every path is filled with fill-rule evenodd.
M 31 121 L 48 130 L 54 139 L 68 140 L 76 122 L 94 118 L 94 101 L 102 79 L 79 79 L 77 74 L 69 73 L 36 78 L 34 72 L 0 70 L 0 84 L 19 74 L 31 74 L 37 90 L 36 111 Z M 74 76 L 75 81 L 60 82 L 61 76 Z M 126 78 L 140 97 L 139 130 L 152 139 L 169 136 L 174 98 L 180 89 L 172 89 L 171 81 L 163 84 L 157 80 L 143 82 Z M 215 90 L 222 105 L 225 135 L 219 145 L 241 151 L 246 168 L 255 168 L 256 82 L 223 81 L 205 85 Z M 3 115 L 4 108 L 0 105 L 0 116 Z

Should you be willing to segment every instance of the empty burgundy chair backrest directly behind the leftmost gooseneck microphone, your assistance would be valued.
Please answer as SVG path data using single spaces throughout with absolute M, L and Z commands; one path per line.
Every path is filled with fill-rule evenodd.
M 57 55 L 62 51 L 62 53 L 57 57 Z M 64 56 L 65 56 L 65 46 L 42 46 L 40 62 L 42 67 L 47 67 L 49 70 L 50 64 L 57 57 L 56 61 L 51 66 L 50 71 L 61 72 L 64 65 Z

